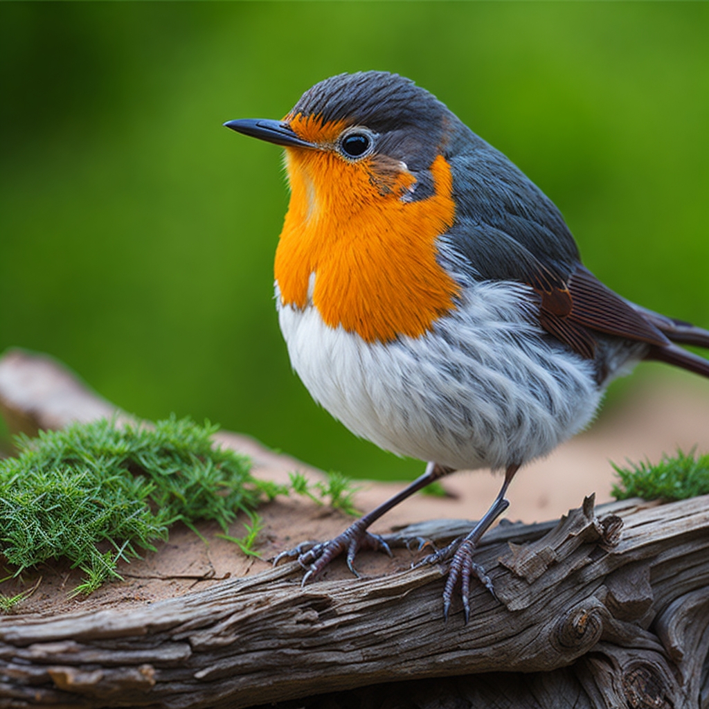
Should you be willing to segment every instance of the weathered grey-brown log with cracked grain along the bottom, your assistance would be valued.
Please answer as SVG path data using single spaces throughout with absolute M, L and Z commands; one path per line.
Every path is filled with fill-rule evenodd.
M 8 408 L 4 381 L 0 363 Z M 709 496 L 587 499 L 497 527 L 477 559 L 498 598 L 474 588 L 468 625 L 459 606 L 443 623 L 437 567 L 301 588 L 297 564 L 129 612 L 3 618 L 0 706 L 709 706 Z

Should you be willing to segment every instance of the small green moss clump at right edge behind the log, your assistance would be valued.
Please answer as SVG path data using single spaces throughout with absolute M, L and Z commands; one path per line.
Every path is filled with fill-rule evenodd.
M 621 468 L 613 463 L 613 468 L 620 478 L 611 491 L 617 500 L 684 500 L 709 494 L 709 454 L 695 457 L 693 450 L 689 454 L 678 450 L 675 457 L 664 454 L 657 464 L 630 463 L 630 468 Z

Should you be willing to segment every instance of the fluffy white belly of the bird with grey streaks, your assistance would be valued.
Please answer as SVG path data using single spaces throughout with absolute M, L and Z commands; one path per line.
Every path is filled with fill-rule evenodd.
M 352 432 L 454 469 L 498 469 L 547 454 L 602 396 L 591 362 L 523 316 L 522 288 L 470 286 L 430 332 L 386 345 L 328 327 L 312 305 L 282 305 L 278 288 L 277 303 L 291 364 Z

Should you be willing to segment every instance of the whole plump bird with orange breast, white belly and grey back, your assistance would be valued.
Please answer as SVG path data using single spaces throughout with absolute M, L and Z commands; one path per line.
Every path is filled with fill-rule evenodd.
M 709 331 L 637 306 L 581 262 L 559 209 L 445 104 L 382 71 L 315 84 L 282 120 L 227 128 L 284 147 L 290 201 L 275 300 L 292 367 L 355 435 L 425 472 L 337 537 L 303 542 L 303 586 L 344 554 L 391 554 L 369 525 L 456 470 L 503 471 L 447 563 L 469 618 L 474 561 L 528 462 L 586 428 L 613 379 L 642 360 L 709 376 Z

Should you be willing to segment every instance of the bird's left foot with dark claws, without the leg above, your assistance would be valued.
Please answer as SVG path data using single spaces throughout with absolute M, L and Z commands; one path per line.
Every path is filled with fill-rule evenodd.
M 307 569 L 301 586 L 316 579 L 335 557 L 347 552 L 347 566 L 354 576 L 359 577 L 354 568 L 354 557 L 360 549 L 372 549 L 375 552 L 385 552 L 391 557 L 391 549 L 384 537 L 367 532 L 362 520 L 352 523 L 342 534 L 329 542 L 302 542 L 294 549 L 281 552 L 273 560 L 274 566 L 281 559 L 297 557 L 298 563 Z

